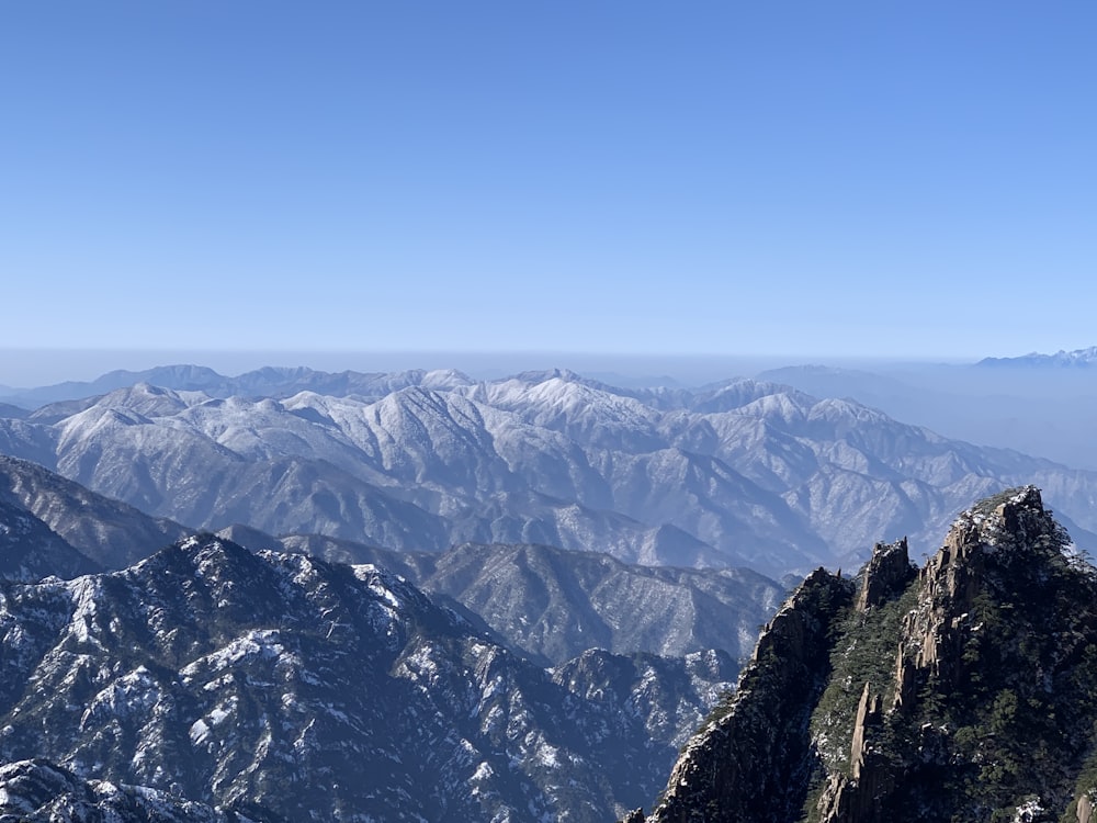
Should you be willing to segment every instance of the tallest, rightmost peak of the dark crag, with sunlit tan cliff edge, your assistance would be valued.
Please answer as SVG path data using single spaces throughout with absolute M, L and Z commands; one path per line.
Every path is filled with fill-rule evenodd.
M 935 782 L 946 780 L 953 786 L 947 792 L 937 790 L 938 797 L 948 796 L 938 804 L 938 813 L 947 807 L 953 819 L 986 819 L 993 812 L 1017 821 L 1059 820 L 1070 799 L 1066 787 L 1055 787 L 1043 776 L 1033 779 L 1039 765 L 1029 763 L 1022 769 L 1008 758 L 1013 749 L 1033 746 L 1039 751 L 1060 744 L 1055 769 L 1062 770 L 1063 759 L 1073 760 L 1077 769 L 1079 749 L 1092 746 L 1093 741 L 1062 746 L 1056 740 L 1010 741 L 1003 735 L 1022 732 L 1017 723 L 1024 711 L 1018 680 L 1044 678 L 1033 690 L 1041 694 L 1033 694 L 1027 703 L 1034 710 L 1042 702 L 1047 711 L 1058 702 L 1053 687 L 1056 674 L 1064 680 L 1075 674 L 1066 667 L 1059 673 L 1032 670 L 1054 657 L 1054 638 L 1078 616 L 1076 610 L 1093 608 L 1092 601 L 1085 601 L 1086 591 L 1094 590 L 1092 570 L 1071 568 L 1062 553 L 1067 542 L 1032 486 L 987 498 L 960 515 L 940 551 L 919 574 L 916 606 L 903 617 L 891 684 L 893 698 L 885 715 L 880 713 L 879 697 L 870 698 L 869 684 L 864 685 L 853 729 L 851 768 L 848 775 L 829 777 L 816 807 L 822 823 L 894 820 L 901 810 L 909 810 L 919 793 L 928 793 Z M 1078 600 L 1066 607 L 1073 615 L 1055 608 L 1063 594 L 1052 582 L 1056 577 L 1064 585 L 1074 584 Z M 1026 613 L 1007 615 L 1007 619 L 1015 618 L 1014 624 L 998 622 L 1004 611 L 1017 610 L 1018 599 L 1033 598 L 1033 608 Z M 1094 628 L 1092 613 L 1086 622 Z M 1092 650 L 1097 638 L 1090 633 L 1081 640 Z M 985 658 L 987 646 L 997 659 Z M 1093 674 L 1084 672 L 1082 676 Z M 986 701 L 994 708 L 977 708 Z M 1071 714 L 1093 717 L 1097 709 L 1089 696 L 1075 696 L 1071 702 Z M 904 735 L 916 743 L 904 742 Z M 998 748 L 998 756 L 1014 766 L 1008 775 L 987 764 Z M 970 782 L 958 790 L 958 778 Z M 1017 785 L 1026 778 L 1029 797 L 1015 805 L 1006 789 L 995 792 L 992 788 L 1000 782 L 1016 793 Z M 1059 811 L 1053 813 L 1056 805 Z M 1084 813 L 1084 802 L 1079 802 L 1079 813 Z

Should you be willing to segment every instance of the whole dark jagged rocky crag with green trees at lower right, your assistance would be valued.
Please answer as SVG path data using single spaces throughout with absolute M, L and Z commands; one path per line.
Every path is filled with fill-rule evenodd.
M 651 820 L 1092 819 L 1097 572 L 1040 493 L 964 511 L 911 576 L 900 542 L 877 546 L 859 596 L 837 611 L 804 602 L 828 578 L 808 579 L 759 640 L 726 715 L 687 745 Z M 790 612 L 827 632 L 767 662 Z M 805 649 L 826 681 L 790 698 L 780 673 L 803 666 Z

